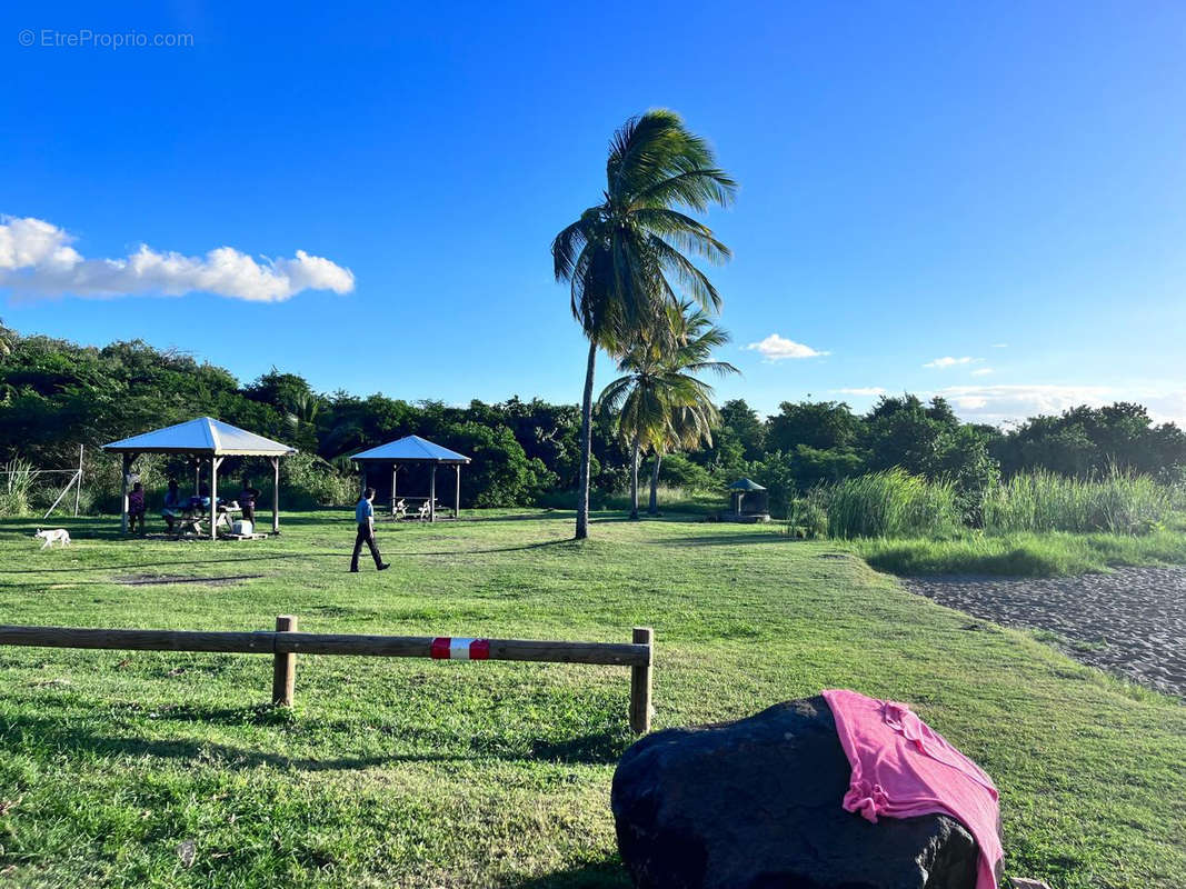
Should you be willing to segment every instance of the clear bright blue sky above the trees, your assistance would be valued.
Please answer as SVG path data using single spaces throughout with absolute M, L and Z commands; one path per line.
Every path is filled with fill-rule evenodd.
M 709 217 L 744 371 L 721 398 L 1186 418 L 1186 5 L 93 6 L 0 12 L 21 332 L 326 391 L 575 402 L 548 244 L 597 203 L 614 127 L 669 107 L 741 183 Z M 157 34 L 191 45 L 95 45 Z M 85 295 L 104 287 L 133 293 Z

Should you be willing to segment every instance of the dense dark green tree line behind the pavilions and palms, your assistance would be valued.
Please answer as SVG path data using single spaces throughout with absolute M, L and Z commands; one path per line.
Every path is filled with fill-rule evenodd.
M 100 507 L 114 507 L 117 468 L 98 446 L 203 415 L 299 448 L 300 458 L 286 461 L 285 481 L 304 487 L 311 501 L 347 499 L 353 491 L 349 456 L 409 434 L 473 458 L 463 485 L 465 506 L 568 506 L 581 484 L 575 404 L 516 397 L 457 407 L 315 392 L 299 375 L 279 370 L 243 384 L 223 367 L 141 341 L 93 347 L 2 334 L 0 462 L 19 458 L 42 468 L 69 467 L 84 444 L 88 477 L 109 485 L 109 499 Z M 637 382 L 629 372 L 616 380 L 627 392 Z M 712 417 L 706 411 L 689 420 L 699 431 L 682 443 L 667 441 L 639 456 L 642 439 L 636 448 L 635 436 L 621 434 L 623 402 L 612 397 L 614 383 L 607 391 L 611 397 L 594 402 L 591 411 L 594 506 L 610 492 L 627 491 L 636 467 L 656 492 L 661 486 L 720 490 L 750 477 L 771 490 L 776 510 L 820 482 L 901 467 L 954 481 L 965 520 L 976 524 L 986 490 L 1032 469 L 1091 478 L 1120 468 L 1166 481 L 1186 472 L 1181 429 L 1154 423 L 1143 407 L 1130 403 L 1073 408 L 1002 430 L 961 422 L 943 398 L 924 402 L 912 395 L 882 397 L 863 414 L 843 402 L 788 401 L 769 417 L 734 399 L 709 404 Z

